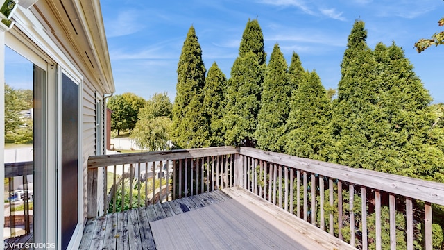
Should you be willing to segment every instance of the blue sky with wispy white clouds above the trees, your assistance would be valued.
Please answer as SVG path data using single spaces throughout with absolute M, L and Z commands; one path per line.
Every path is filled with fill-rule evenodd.
M 434 98 L 444 103 L 444 46 L 417 53 L 413 44 L 441 31 L 441 0 L 102 0 L 101 8 L 116 94 L 148 99 L 155 92 L 176 96 L 177 63 L 187 31 L 196 29 L 208 69 L 215 61 L 229 78 L 248 19 L 258 19 L 268 58 L 275 43 L 290 63 L 315 69 L 325 88 L 336 88 L 353 23 L 361 19 L 367 43 L 395 41 Z M 268 60 L 267 60 L 268 63 Z

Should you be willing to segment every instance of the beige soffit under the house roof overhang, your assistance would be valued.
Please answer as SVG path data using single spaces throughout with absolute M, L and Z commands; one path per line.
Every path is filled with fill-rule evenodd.
M 115 91 L 98 0 L 37 1 L 31 10 L 96 88 L 108 94 Z

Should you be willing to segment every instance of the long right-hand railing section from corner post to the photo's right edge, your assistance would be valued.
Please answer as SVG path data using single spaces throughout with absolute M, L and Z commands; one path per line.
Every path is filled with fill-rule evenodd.
M 444 206 L 442 183 L 246 147 L 239 154 L 244 188 L 359 249 L 433 249 L 441 237 L 432 205 Z

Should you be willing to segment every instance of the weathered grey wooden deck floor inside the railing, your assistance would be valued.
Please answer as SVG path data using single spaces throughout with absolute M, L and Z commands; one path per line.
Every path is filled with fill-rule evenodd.
M 244 188 L 89 219 L 80 249 L 354 249 Z

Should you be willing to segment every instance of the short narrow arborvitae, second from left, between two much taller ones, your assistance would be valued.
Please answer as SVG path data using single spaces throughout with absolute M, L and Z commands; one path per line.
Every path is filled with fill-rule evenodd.
M 205 81 L 203 106 L 210 122 L 210 146 L 222 146 L 225 144 L 222 118 L 227 78 L 214 62 L 212 67 L 208 69 Z

